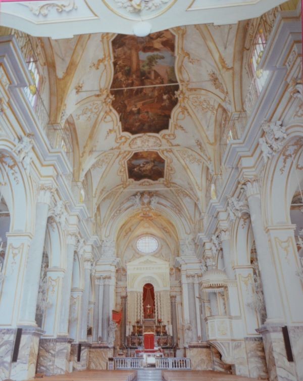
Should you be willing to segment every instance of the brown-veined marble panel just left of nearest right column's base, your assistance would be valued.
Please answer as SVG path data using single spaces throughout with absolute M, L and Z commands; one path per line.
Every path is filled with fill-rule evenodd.
M 262 338 L 245 339 L 249 377 L 268 378 Z

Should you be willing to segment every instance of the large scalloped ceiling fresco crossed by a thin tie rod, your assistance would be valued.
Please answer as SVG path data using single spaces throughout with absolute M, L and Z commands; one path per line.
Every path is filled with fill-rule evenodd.
M 118 34 L 112 48 L 112 105 L 120 116 L 122 131 L 138 134 L 168 129 L 178 102 L 175 36 L 169 30 L 147 37 Z

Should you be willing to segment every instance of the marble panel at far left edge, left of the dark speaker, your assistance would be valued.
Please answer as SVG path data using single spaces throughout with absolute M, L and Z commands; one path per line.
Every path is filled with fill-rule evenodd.
M 10 378 L 16 329 L 0 329 L 0 379 Z

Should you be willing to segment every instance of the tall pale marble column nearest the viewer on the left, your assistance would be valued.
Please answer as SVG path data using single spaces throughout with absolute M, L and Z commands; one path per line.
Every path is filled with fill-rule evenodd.
M 22 321 L 22 324 L 26 325 L 36 326 L 35 315 L 39 278 L 51 194 L 51 187 L 43 186 L 40 187 L 37 195 L 35 232 L 26 262 L 23 296 L 20 309 L 20 321 Z

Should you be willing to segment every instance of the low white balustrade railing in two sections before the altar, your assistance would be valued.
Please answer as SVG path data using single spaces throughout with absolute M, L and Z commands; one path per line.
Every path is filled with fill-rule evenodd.
M 145 361 L 135 357 L 114 357 L 115 369 L 140 369 Z M 191 369 L 190 359 L 186 357 L 156 358 L 156 369 Z

